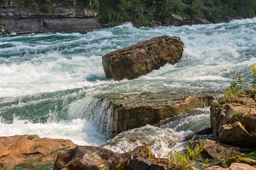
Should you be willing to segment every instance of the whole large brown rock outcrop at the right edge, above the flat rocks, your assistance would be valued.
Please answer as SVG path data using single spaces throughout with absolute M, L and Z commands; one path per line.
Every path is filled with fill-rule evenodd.
M 256 146 L 256 102 L 242 95 L 235 102 L 211 103 L 211 127 L 222 142 Z

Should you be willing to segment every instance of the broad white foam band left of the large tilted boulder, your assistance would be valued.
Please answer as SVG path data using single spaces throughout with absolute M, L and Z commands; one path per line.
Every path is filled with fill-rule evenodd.
M 50 53 L 20 64 L 0 64 L 0 97 L 105 84 L 104 81 L 87 81 L 105 77 L 100 59 L 100 56 L 67 59 L 59 53 Z

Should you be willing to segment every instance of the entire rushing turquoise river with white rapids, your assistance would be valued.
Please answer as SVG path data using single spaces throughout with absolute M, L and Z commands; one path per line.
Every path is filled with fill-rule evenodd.
M 105 78 L 104 54 L 160 35 L 179 36 L 185 44 L 177 64 L 135 80 Z M 127 23 L 93 32 L 0 36 L 0 136 L 37 134 L 100 146 L 110 137 L 101 131 L 97 117 L 87 119 L 93 111 L 88 109 L 95 102 L 93 95 L 221 91 L 238 71 L 250 83 L 253 64 L 256 18 L 140 29 Z M 104 104 L 108 103 L 95 112 L 100 113 Z M 185 135 L 209 126 L 209 121 L 209 108 L 200 109 L 121 133 L 105 147 L 124 152 L 150 143 L 156 150 L 160 146 L 165 151 L 179 149 Z

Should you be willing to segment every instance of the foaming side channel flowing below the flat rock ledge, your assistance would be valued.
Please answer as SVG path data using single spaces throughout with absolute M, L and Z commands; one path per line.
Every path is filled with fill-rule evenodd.
M 125 153 L 139 145 L 149 144 L 153 153 L 164 157 L 170 151 L 183 149 L 184 136 L 209 126 L 209 108 L 197 109 L 187 117 L 162 120 L 156 125 L 122 132 L 106 142 L 103 147 Z

